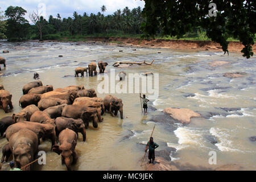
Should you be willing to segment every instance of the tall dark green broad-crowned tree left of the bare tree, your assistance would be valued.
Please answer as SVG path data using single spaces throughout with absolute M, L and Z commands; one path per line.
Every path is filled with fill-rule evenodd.
M 22 7 L 9 6 L 5 11 L 7 19 L 6 36 L 9 41 L 26 40 L 30 24 L 23 17 L 27 13 Z

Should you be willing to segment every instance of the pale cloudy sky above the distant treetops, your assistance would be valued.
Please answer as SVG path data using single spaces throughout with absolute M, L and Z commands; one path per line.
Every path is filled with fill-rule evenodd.
M 9 6 L 21 6 L 27 10 L 28 14 L 38 9 L 39 12 L 48 20 L 49 15 L 56 17 L 59 13 L 61 18 L 72 17 L 73 12 L 79 14 L 86 12 L 97 14 L 101 12 L 101 6 L 106 6 L 104 15 L 113 14 L 117 9 L 123 10 L 126 6 L 129 9 L 141 6 L 144 7 L 144 1 L 140 0 L 0 0 L 1 11 L 5 11 Z

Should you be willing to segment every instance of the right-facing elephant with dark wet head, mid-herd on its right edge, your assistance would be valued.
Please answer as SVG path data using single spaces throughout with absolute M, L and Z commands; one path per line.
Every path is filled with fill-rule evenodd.
M 87 129 L 89 126 L 89 121 L 93 121 L 93 127 L 98 127 L 97 111 L 93 107 L 80 106 L 80 105 L 67 105 L 63 108 L 63 117 L 82 119 Z

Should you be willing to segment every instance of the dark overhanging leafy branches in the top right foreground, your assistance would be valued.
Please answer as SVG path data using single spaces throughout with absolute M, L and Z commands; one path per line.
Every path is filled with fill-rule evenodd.
M 243 56 L 253 56 L 252 45 L 255 38 L 255 1 L 198 1 L 198 0 L 144 0 L 141 25 L 142 38 L 155 35 L 170 35 L 182 38 L 193 28 L 201 27 L 206 36 L 220 43 L 228 52 L 228 38 L 240 40 L 244 48 Z M 209 16 L 209 3 L 217 5 L 217 16 Z

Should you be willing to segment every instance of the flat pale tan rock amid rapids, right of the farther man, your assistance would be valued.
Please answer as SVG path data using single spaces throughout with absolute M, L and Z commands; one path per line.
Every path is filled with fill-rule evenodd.
M 201 117 L 199 113 L 195 113 L 190 109 L 184 109 L 184 108 L 176 109 L 176 108 L 168 107 L 164 109 L 163 112 L 170 115 L 170 117 L 174 118 L 175 120 L 183 124 L 190 123 L 191 118 Z

